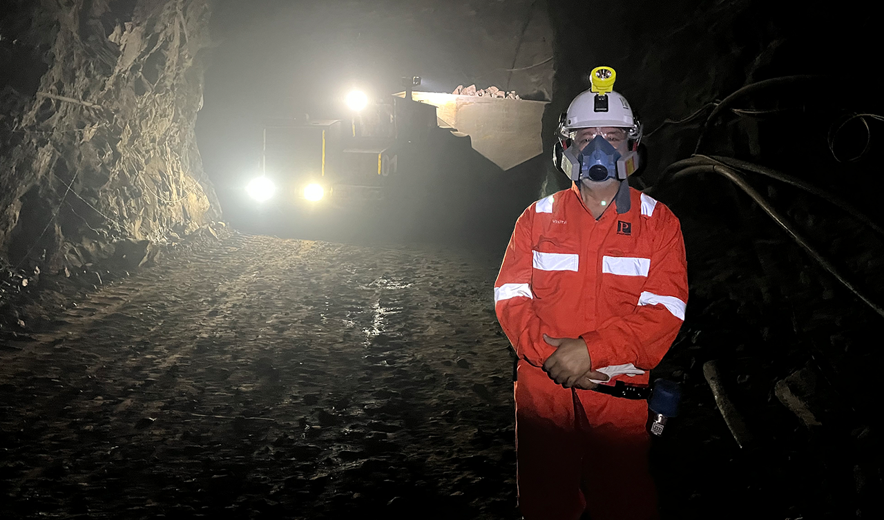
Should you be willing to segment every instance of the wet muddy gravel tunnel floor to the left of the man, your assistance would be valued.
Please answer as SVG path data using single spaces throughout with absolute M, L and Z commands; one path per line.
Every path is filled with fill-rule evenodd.
M 103 287 L 0 355 L 0 516 L 514 516 L 492 265 L 234 234 Z

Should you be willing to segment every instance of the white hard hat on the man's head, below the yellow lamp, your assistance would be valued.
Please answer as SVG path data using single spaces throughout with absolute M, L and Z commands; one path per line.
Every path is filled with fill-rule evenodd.
M 597 97 L 606 97 L 604 103 L 606 110 L 597 102 Z M 640 141 L 642 138 L 642 124 L 629 107 L 626 98 L 616 92 L 608 92 L 606 96 L 599 96 L 592 90 L 586 90 L 574 98 L 568 106 L 568 111 L 562 114 L 559 126 L 559 134 L 568 138 L 568 134 L 579 128 L 594 128 L 597 126 L 618 126 L 629 129 L 629 140 Z

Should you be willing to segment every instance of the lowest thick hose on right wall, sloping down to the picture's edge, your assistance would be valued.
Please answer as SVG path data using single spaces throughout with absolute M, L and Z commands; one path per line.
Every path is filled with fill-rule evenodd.
M 810 242 L 808 242 L 804 235 L 798 233 L 795 230 L 795 227 L 791 222 L 785 217 L 783 217 L 777 210 L 773 208 L 773 206 L 767 202 L 767 200 L 756 191 L 755 188 L 751 187 L 746 180 L 743 179 L 742 176 L 738 172 L 735 172 L 731 167 L 724 164 L 709 164 L 708 158 L 705 157 L 691 157 L 690 159 L 685 159 L 683 161 L 679 161 L 678 163 L 672 164 L 667 171 L 674 171 L 669 177 L 669 180 L 678 180 L 682 177 L 689 176 L 695 173 L 718 173 L 722 177 L 733 182 L 737 187 L 743 190 L 746 195 L 749 195 L 755 203 L 758 203 L 758 206 L 761 207 L 762 210 L 765 210 L 770 218 L 773 218 L 773 221 L 776 222 L 779 226 L 781 226 L 786 233 L 789 233 L 789 236 L 792 237 L 792 240 L 796 241 L 796 243 L 801 246 L 804 251 L 812 257 L 814 261 L 817 262 L 823 269 L 829 271 L 835 279 L 837 279 L 844 287 L 847 287 L 851 293 L 856 294 L 857 298 L 865 302 L 866 305 L 872 308 L 875 312 L 877 312 L 881 317 L 884 317 L 884 308 L 882 308 L 878 303 L 873 302 L 873 300 L 867 296 L 863 291 L 861 291 L 858 287 L 856 287 L 850 280 L 846 279 L 841 271 L 835 267 L 825 256 L 823 256 L 817 249 L 815 249 Z M 705 162 L 705 164 L 704 164 Z

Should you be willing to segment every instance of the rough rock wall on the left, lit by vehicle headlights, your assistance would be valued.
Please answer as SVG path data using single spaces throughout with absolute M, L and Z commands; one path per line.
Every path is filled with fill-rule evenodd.
M 80 266 L 220 218 L 194 138 L 210 8 L 4 3 L 0 261 Z

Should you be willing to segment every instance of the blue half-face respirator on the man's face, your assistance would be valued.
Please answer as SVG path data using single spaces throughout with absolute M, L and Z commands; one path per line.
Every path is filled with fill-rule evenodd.
M 560 153 L 560 157 L 556 157 L 557 165 L 568 175 L 568 179 L 576 182 L 584 179 L 595 182 L 624 180 L 638 169 L 638 154 L 635 151 L 622 155 L 601 134 L 580 151 L 572 144 Z

